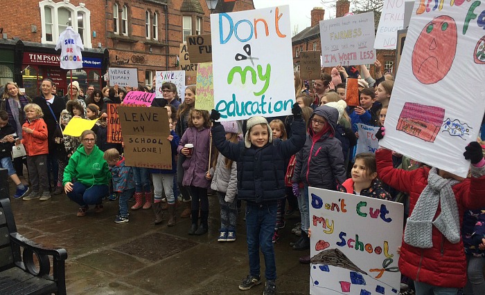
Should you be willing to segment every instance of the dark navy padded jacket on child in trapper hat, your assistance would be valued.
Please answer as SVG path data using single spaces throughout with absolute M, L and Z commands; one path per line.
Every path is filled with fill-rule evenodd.
M 238 200 L 268 202 L 285 198 L 285 158 L 297 153 L 305 142 L 305 122 L 294 120 L 290 140 L 275 139 L 262 148 L 225 139 L 224 126 L 212 127 L 213 141 L 224 157 L 238 164 Z M 271 136 L 271 133 L 270 133 Z

